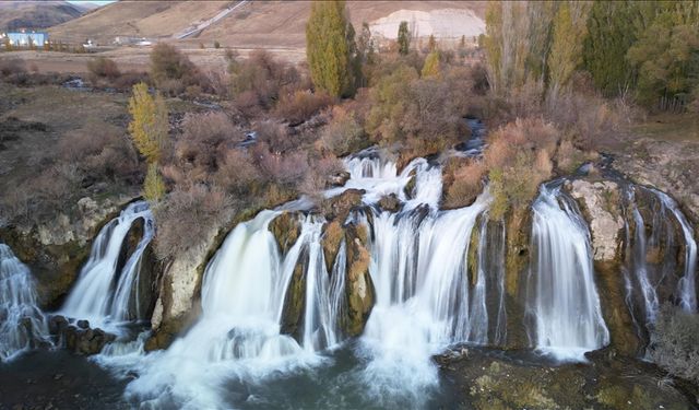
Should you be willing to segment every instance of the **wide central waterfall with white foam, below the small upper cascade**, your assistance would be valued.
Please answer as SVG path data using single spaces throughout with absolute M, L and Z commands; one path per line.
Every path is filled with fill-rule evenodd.
M 467 208 L 374 216 L 369 272 L 377 300 L 362 337 L 372 397 L 410 391 L 419 402 L 424 388 L 438 383 L 433 354 L 452 343 L 487 343 L 487 313 L 469 303 L 479 304 L 484 289 L 469 289 L 466 270 L 472 230 L 489 200 L 485 192 Z

